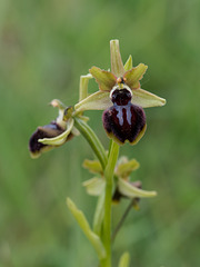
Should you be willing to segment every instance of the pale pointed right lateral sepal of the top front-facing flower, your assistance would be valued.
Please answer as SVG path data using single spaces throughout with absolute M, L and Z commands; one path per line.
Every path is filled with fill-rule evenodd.
M 166 99 L 160 98 L 149 91 L 143 89 L 132 90 L 132 101 L 133 105 L 140 106 L 142 108 L 150 107 L 161 107 L 166 105 Z

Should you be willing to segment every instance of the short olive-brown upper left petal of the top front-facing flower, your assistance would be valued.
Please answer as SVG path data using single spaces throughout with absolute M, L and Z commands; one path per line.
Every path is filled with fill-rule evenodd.
M 117 78 L 110 71 L 101 70 L 98 67 L 92 67 L 89 71 L 96 78 L 101 91 L 110 91 L 117 82 Z

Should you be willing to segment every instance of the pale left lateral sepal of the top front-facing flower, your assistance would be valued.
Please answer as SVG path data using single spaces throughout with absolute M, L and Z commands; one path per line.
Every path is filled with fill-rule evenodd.
M 97 91 L 74 106 L 77 112 L 84 110 L 104 110 L 113 103 L 110 100 L 110 92 Z

